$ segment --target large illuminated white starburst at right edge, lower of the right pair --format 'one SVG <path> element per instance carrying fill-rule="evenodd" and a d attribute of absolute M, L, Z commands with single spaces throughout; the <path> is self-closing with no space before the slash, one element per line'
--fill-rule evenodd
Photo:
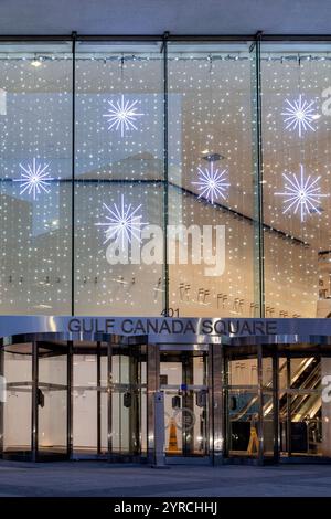
<path fill-rule="evenodd" d="M 284 186 L 285 191 L 282 193 L 275 193 L 285 198 L 285 210 L 282 214 L 286 214 L 291 209 L 293 214 L 297 214 L 298 210 L 300 210 L 301 222 L 305 221 L 307 214 L 321 214 L 319 210 L 320 199 L 323 197 L 329 197 L 329 194 L 322 194 L 320 192 L 321 188 L 318 186 L 318 181 L 321 177 L 312 179 L 311 174 L 308 174 L 308 177 L 305 178 L 302 165 L 300 165 L 299 179 L 296 173 L 290 174 L 291 178 L 282 173 L 282 177 L 286 181 Z"/>

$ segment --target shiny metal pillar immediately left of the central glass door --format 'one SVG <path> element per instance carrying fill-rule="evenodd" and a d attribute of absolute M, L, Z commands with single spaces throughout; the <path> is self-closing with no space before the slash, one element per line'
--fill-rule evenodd
<path fill-rule="evenodd" d="M 154 394 L 160 386 L 160 350 L 157 345 L 147 346 L 147 460 L 156 463 Z"/>

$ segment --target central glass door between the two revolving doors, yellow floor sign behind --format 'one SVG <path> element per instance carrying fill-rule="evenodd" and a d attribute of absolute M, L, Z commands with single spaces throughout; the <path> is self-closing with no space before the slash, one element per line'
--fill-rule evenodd
<path fill-rule="evenodd" d="M 162 352 L 160 389 L 164 392 L 167 456 L 206 456 L 206 352 Z"/>

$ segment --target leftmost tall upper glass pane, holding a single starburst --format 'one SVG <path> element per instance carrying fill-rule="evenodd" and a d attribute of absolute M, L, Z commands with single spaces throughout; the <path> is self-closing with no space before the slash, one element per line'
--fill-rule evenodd
<path fill-rule="evenodd" d="M 71 310 L 70 52 L 0 45 L 1 314 Z"/>

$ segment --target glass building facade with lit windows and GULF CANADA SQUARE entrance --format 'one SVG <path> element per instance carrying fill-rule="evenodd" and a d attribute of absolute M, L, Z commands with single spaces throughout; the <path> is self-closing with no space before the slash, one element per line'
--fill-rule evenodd
<path fill-rule="evenodd" d="M 331 458 L 330 50 L 2 38 L 3 457 Z"/>

